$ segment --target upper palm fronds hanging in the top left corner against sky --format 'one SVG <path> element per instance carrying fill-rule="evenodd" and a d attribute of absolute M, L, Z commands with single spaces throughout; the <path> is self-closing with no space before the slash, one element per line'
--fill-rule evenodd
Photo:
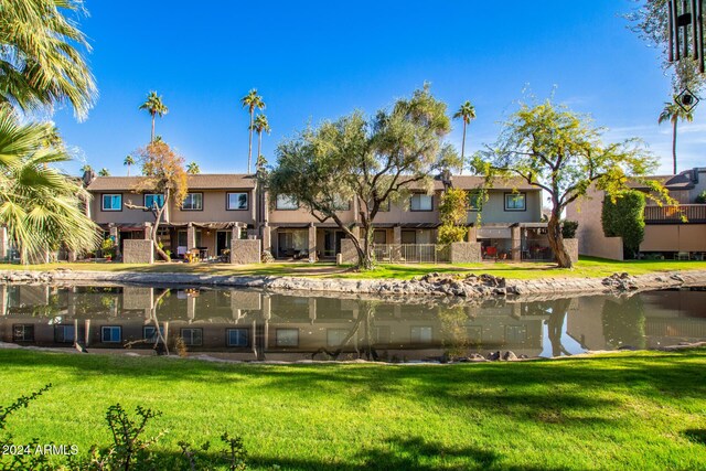
<path fill-rule="evenodd" d="M 79 0 L 0 0 L 0 104 L 23 111 L 71 104 L 84 119 L 97 96 L 75 18 Z"/>

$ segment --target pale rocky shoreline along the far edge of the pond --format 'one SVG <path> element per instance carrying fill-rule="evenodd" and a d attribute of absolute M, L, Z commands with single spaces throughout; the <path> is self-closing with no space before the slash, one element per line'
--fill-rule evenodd
<path fill-rule="evenodd" d="M 706 287 L 706 270 L 653 272 L 639 276 L 613 274 L 606 278 L 539 278 L 516 280 L 492 275 L 452 276 L 429 274 L 410 280 L 338 279 L 203 274 L 145 274 L 137 271 L 0 270 L 0 281 L 21 283 L 137 283 L 182 285 L 221 288 L 259 288 L 274 291 L 309 291 L 383 297 L 451 297 L 488 299 L 506 296 L 598 295 L 645 290 Z"/>

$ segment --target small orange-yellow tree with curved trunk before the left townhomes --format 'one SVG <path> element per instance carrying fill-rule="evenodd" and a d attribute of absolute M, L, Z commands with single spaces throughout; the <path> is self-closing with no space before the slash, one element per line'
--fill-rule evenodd
<path fill-rule="evenodd" d="M 159 226 L 164 217 L 164 211 L 170 205 L 181 206 L 189 193 L 188 176 L 184 170 L 184 158 L 174 152 L 165 142 L 151 142 L 138 150 L 142 163 L 145 178 L 135 186 L 136 193 L 150 192 L 163 195 L 161 202 L 154 201 L 150 207 L 136 205 L 128 201 L 129 208 L 151 211 L 154 215 L 154 224 L 150 233 L 150 239 L 157 254 L 165 261 L 171 257 L 162 249 L 159 243 Z"/>

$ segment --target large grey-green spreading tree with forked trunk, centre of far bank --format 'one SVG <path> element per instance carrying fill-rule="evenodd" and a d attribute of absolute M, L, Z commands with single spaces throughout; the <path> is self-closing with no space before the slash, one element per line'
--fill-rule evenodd
<path fill-rule="evenodd" d="M 266 182 L 321 222 L 332 220 L 353 243 L 359 267 L 373 267 L 373 226 L 381 207 L 399 201 L 413 185 L 425 186 L 437 172 L 458 165 L 445 103 L 427 85 L 411 98 L 366 119 L 355 111 L 336 121 L 309 127 L 277 148 L 277 164 Z M 362 236 L 341 220 L 341 200 L 360 202 Z"/>

